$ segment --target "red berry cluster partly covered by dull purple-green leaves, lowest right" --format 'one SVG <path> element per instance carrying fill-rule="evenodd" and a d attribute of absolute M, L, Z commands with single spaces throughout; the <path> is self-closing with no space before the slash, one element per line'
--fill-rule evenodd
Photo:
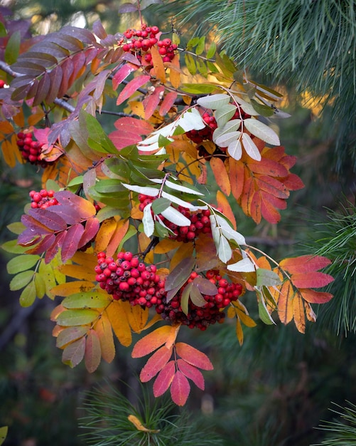
<path fill-rule="evenodd" d="M 169 320 L 172 323 L 182 323 L 189 328 L 199 328 L 202 331 L 206 330 L 213 323 L 222 323 L 225 318 L 225 313 L 222 311 L 222 308 L 225 308 L 230 302 L 238 299 L 242 292 L 242 286 L 222 279 L 218 271 L 207 271 L 206 276 L 217 287 L 217 294 L 215 296 L 203 294 L 203 298 L 206 301 L 204 306 L 196 306 L 189 300 L 188 314 L 183 313 L 180 306 L 180 299 L 185 286 L 198 277 L 196 272 L 192 272 L 186 284 L 171 301 L 167 302 L 166 297 L 163 297 L 162 304 L 156 306 L 156 312 L 163 319 Z"/>

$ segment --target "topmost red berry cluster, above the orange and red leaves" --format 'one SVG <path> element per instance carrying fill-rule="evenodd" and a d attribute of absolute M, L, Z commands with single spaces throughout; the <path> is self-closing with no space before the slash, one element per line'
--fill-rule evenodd
<path fill-rule="evenodd" d="M 174 58 L 174 51 L 178 47 L 175 43 L 172 43 L 170 38 L 158 40 L 156 36 L 159 32 L 158 26 L 146 26 L 146 24 L 142 24 L 139 30 L 127 29 L 124 32 L 127 43 L 122 45 L 122 49 L 126 53 L 135 54 L 140 61 L 144 57 L 144 61 L 151 63 L 152 56 L 150 49 L 156 45 L 158 46 L 158 53 L 161 54 L 163 62 L 170 62 Z"/>

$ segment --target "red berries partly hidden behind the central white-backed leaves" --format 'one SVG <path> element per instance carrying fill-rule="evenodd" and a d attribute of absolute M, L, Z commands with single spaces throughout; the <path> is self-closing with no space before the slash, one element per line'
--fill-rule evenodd
<path fill-rule="evenodd" d="M 139 209 L 141 211 L 147 206 L 147 204 L 153 202 L 156 197 L 149 197 L 148 195 L 139 194 Z M 178 206 L 178 211 L 180 214 L 184 215 L 190 219 L 189 226 L 177 226 L 176 224 L 170 222 L 162 215 L 160 219 L 163 224 L 171 229 L 171 234 L 169 234 L 170 239 L 177 240 L 178 242 L 191 242 L 199 234 L 211 234 L 210 226 L 210 209 L 204 209 L 200 212 L 190 212 L 189 209 L 183 206 Z"/>

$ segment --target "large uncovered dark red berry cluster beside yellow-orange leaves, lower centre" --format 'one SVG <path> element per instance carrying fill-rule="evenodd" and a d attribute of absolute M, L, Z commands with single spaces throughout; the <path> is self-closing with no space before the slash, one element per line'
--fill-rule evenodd
<path fill-rule="evenodd" d="M 95 280 L 113 299 L 150 308 L 162 303 L 164 280 L 156 274 L 156 265 L 146 265 L 130 251 L 119 252 L 117 259 L 97 254 Z"/>

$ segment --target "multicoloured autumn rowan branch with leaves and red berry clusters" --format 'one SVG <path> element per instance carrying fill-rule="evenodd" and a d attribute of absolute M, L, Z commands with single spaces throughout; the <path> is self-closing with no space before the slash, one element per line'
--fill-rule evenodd
<path fill-rule="evenodd" d="M 168 33 L 141 24 L 109 35 L 97 21 L 91 31 L 1 38 L 2 154 L 10 167 L 32 162 L 43 187 L 3 248 L 21 305 L 63 298 L 51 319 L 64 363 L 92 372 L 114 359 L 116 341 L 128 347 L 140 333 L 141 381 L 184 405 L 212 363 L 178 341 L 180 329 L 205 331 L 226 316 L 242 344 L 243 326 L 256 325 L 253 294 L 264 323 L 294 321 L 303 333 L 312 305 L 332 298 L 315 289 L 333 278 L 320 271 L 325 257 L 276 261 L 237 231 L 234 209 L 277 224 L 303 187 L 269 125 L 286 117 L 281 95 L 215 43 Z M 109 132 L 108 98 L 119 115 Z"/>

